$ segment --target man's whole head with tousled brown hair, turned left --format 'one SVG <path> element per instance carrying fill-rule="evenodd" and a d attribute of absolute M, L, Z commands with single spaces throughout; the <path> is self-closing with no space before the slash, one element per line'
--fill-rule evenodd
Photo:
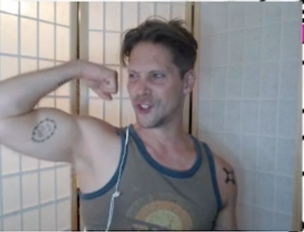
<path fill-rule="evenodd" d="M 182 117 L 194 84 L 196 49 L 178 20 L 147 20 L 125 34 L 120 60 L 126 65 L 128 58 L 128 91 L 141 126 L 159 127 Z"/>

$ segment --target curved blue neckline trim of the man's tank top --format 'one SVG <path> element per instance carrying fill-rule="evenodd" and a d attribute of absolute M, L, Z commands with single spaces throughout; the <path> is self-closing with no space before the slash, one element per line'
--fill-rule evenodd
<path fill-rule="evenodd" d="M 197 154 L 197 158 L 196 158 L 195 163 L 193 164 L 193 166 L 187 171 L 173 170 L 173 169 L 167 168 L 165 166 L 162 166 L 161 164 L 156 162 L 156 160 L 154 160 L 152 158 L 152 156 L 149 154 L 149 152 L 147 151 L 144 142 L 142 141 L 142 139 L 138 136 L 138 134 L 134 130 L 133 125 L 130 126 L 130 135 L 135 140 L 135 143 L 136 143 L 136 145 L 137 145 L 137 147 L 140 151 L 140 154 L 143 155 L 143 157 L 146 159 L 146 161 L 154 169 L 156 169 L 157 171 L 159 171 L 162 174 L 165 174 L 167 176 L 174 177 L 174 178 L 189 178 L 189 177 L 193 176 L 198 171 L 199 167 L 202 164 L 201 148 L 199 146 L 198 141 L 192 135 L 190 135 L 190 137 L 192 138 L 192 140 L 194 142 L 194 147 L 195 147 L 195 151 L 196 151 L 196 154 Z"/>

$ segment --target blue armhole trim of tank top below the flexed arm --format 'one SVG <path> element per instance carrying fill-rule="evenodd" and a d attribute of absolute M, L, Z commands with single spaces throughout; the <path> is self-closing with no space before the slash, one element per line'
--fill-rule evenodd
<path fill-rule="evenodd" d="M 120 130 L 118 128 L 118 130 Z M 119 133 L 119 132 L 118 132 Z M 120 134 L 119 134 L 120 136 Z M 81 193 L 79 191 L 79 197 L 82 199 L 82 200 L 91 200 L 93 198 L 96 198 L 98 196 L 101 196 L 105 193 L 107 193 L 115 184 L 116 184 L 116 181 L 117 181 L 117 178 L 118 178 L 118 174 L 119 174 L 119 164 L 121 163 L 121 159 L 122 159 L 122 156 L 123 156 L 123 150 L 124 150 L 124 142 L 125 142 L 125 136 L 124 134 L 122 134 L 121 137 L 121 152 L 120 152 L 120 158 L 119 158 L 119 163 L 117 165 L 117 169 L 113 175 L 113 177 L 111 178 L 111 180 L 104 186 L 102 187 L 101 189 L 97 190 L 97 191 L 94 191 L 92 193 Z M 125 159 L 124 159 L 124 162 L 122 164 L 122 170 L 121 170 L 121 173 L 123 172 L 123 169 L 124 169 L 124 166 L 126 164 L 126 160 L 127 160 L 127 156 L 128 156 L 128 153 L 126 153 L 126 156 L 125 156 Z"/>

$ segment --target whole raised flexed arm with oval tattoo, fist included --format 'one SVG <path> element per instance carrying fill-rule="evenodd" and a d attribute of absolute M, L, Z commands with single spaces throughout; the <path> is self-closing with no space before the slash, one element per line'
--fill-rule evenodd
<path fill-rule="evenodd" d="M 44 95 L 80 76 L 104 99 L 117 90 L 114 71 L 80 61 L 1 81 L 0 144 L 36 158 L 73 162 L 84 147 L 80 116 L 33 109 Z"/>

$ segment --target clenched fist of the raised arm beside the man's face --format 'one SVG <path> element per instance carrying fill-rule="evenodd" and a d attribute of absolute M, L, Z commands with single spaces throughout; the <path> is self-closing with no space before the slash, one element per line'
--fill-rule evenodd
<path fill-rule="evenodd" d="M 77 61 L 81 77 L 86 85 L 98 96 L 105 100 L 112 100 L 112 94 L 117 93 L 117 72 L 99 64 Z"/>

